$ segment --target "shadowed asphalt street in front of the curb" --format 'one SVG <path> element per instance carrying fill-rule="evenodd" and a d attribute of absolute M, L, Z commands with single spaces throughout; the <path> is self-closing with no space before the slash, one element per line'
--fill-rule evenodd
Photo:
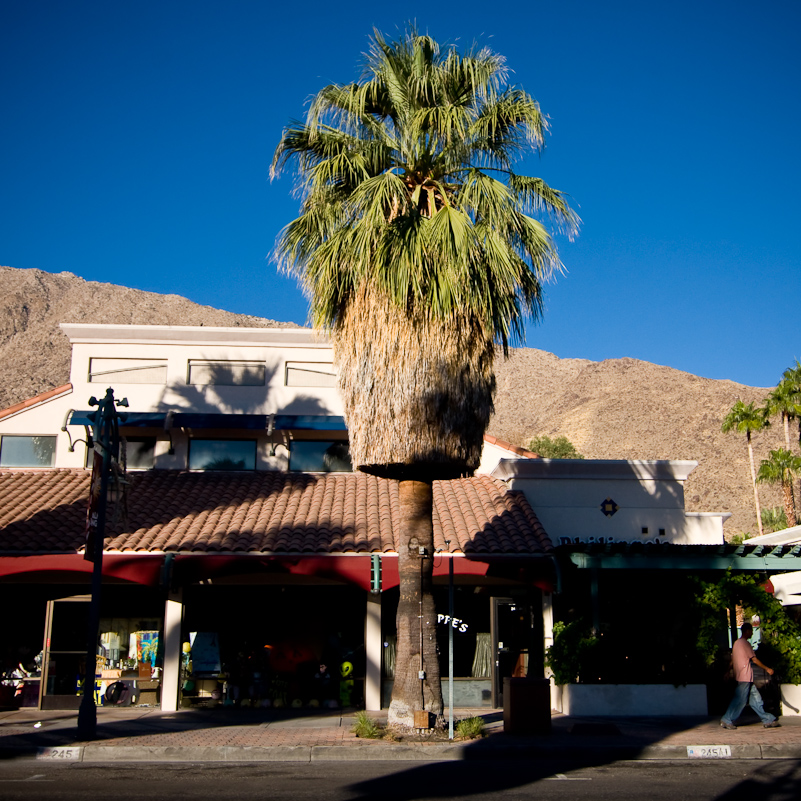
<path fill-rule="evenodd" d="M 0 799 L 85 801 L 264 799 L 537 799 L 537 801 L 798 801 L 801 762 L 397 762 L 103 766 L 0 763 Z"/>

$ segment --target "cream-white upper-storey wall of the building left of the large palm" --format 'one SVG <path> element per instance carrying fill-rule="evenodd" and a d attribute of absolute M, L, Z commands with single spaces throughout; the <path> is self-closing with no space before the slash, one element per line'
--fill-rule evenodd
<path fill-rule="evenodd" d="M 309 329 L 90 324 L 64 324 L 62 329 L 72 344 L 72 390 L 0 420 L 0 436 L 57 436 L 55 466 L 58 468 L 81 468 L 85 465 L 86 446 L 79 443 L 74 452 L 70 452 L 69 436 L 60 429 L 70 410 L 89 410 L 90 397 L 102 398 L 105 395 L 107 383 L 89 380 L 92 359 L 166 361 L 167 377 L 163 384 L 113 381 L 114 396 L 118 399 L 127 398 L 129 412 L 184 410 L 329 416 L 341 416 L 343 412 L 335 387 L 288 387 L 285 384 L 288 361 L 316 364 L 330 364 L 332 361 L 331 346 Z M 190 359 L 263 364 L 266 368 L 266 384 L 257 387 L 191 385 L 187 382 Z M 143 429 L 141 433 L 159 435 L 156 467 L 186 467 L 188 440 L 180 430 L 172 432 L 171 442 L 163 431 Z M 214 435 L 214 432 L 207 433 Z M 74 441 L 83 439 L 85 432 L 81 426 L 70 426 L 69 435 Z M 271 438 L 266 431 L 253 432 L 252 436 L 257 439 L 259 469 L 287 468 L 286 448 L 278 444 L 275 453 L 272 453 L 271 440 L 280 440 L 280 436 Z M 295 436 L 302 438 L 304 435 L 301 432 Z M 171 445 L 172 454 L 169 453 Z"/>

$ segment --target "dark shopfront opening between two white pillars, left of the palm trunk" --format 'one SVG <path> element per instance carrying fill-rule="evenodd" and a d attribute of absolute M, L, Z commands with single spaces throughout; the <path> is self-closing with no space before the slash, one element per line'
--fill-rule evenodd
<path fill-rule="evenodd" d="M 363 702 L 362 590 L 207 585 L 191 588 L 185 604 L 182 706 Z"/>

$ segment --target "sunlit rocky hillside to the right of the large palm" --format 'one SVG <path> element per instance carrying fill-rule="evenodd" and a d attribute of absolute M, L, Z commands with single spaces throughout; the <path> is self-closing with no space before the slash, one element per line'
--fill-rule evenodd
<path fill-rule="evenodd" d="M 693 459 L 686 508 L 731 512 L 727 535 L 756 534 L 745 437 L 720 424 L 737 398 L 761 404 L 768 390 L 714 381 L 636 359 L 559 359 L 525 348 L 499 364 L 491 433 L 509 442 L 533 435 L 566 436 L 589 459 Z M 754 435 L 766 458 L 783 447 L 778 425 Z M 780 493 L 760 486 L 764 506 Z"/>

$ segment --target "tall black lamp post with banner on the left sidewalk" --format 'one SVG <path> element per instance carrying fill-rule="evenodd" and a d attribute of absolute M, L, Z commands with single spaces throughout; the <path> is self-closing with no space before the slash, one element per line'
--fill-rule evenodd
<path fill-rule="evenodd" d="M 120 453 L 120 415 L 117 406 L 127 406 L 127 398 L 116 400 L 109 387 L 103 400 L 89 398 L 90 406 L 97 411 L 89 415 L 92 420 L 94 462 L 89 494 L 89 512 L 86 521 L 86 550 L 84 559 L 94 563 L 92 568 L 92 601 L 89 605 L 89 624 L 86 639 L 86 667 L 84 670 L 83 697 L 78 709 L 78 739 L 94 740 L 97 732 L 95 706 L 95 673 L 97 670 L 97 635 L 100 628 L 100 590 L 103 585 L 103 540 L 106 532 L 106 506 L 108 483 L 112 464 Z M 124 417 L 122 418 L 125 419 Z"/>

